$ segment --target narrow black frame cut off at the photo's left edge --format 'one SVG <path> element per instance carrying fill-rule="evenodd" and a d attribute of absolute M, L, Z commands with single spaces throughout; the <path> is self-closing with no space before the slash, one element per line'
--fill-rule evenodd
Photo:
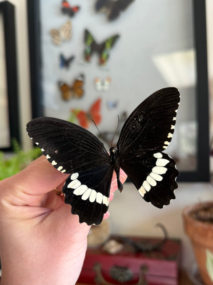
<path fill-rule="evenodd" d="M 0 2 L 0 13 L 3 15 L 4 22 L 7 99 L 10 127 L 10 146 L 6 148 L 1 148 L 0 150 L 12 151 L 12 139 L 16 139 L 18 143 L 20 143 L 15 36 L 15 7 L 8 1 Z"/>

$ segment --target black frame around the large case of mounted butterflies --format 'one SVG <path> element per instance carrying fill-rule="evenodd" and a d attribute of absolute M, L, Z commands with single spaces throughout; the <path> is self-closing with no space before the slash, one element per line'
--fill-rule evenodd
<path fill-rule="evenodd" d="M 30 46 L 30 72 L 32 117 L 43 115 L 41 88 L 41 49 L 40 49 L 40 13 L 39 0 L 27 0 Z M 194 39 L 196 48 L 196 106 L 198 121 L 197 169 L 181 172 L 178 181 L 209 181 L 209 115 L 208 115 L 208 76 L 206 44 L 205 1 L 193 0 Z"/>

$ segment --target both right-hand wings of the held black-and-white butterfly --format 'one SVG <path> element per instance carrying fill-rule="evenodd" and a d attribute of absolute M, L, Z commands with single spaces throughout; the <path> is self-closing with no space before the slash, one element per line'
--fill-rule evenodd
<path fill-rule="evenodd" d="M 153 93 L 126 120 L 117 144 L 120 167 L 140 195 L 159 208 L 175 199 L 178 186 L 175 161 L 161 151 L 172 140 L 179 101 L 176 88 Z"/>

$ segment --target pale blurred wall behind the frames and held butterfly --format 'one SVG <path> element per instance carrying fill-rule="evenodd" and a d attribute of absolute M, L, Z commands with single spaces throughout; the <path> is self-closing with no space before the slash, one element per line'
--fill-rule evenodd
<path fill-rule="evenodd" d="M 17 60 L 18 83 L 20 99 L 22 139 L 25 148 L 30 146 L 30 140 L 25 134 L 26 122 L 30 120 L 30 81 L 29 81 L 29 56 L 27 34 L 27 10 L 25 0 L 11 0 L 16 6 L 16 31 L 17 31 Z M 213 100 L 213 20 L 212 0 L 207 0 L 208 23 L 208 67 L 210 102 Z M 211 111 L 211 129 L 213 116 Z M 161 236 L 159 229 L 155 228 L 157 222 L 162 222 L 167 227 L 169 236 L 179 237 L 183 241 L 182 261 L 184 267 L 190 267 L 194 261 L 193 252 L 187 237 L 183 232 L 181 211 L 187 205 L 198 201 L 212 199 L 212 187 L 208 183 L 180 183 L 176 191 L 176 200 L 163 210 L 158 210 L 143 199 L 138 198 L 136 189 L 131 184 L 126 184 L 123 193 L 115 193 L 115 198 L 110 205 L 110 221 L 112 232 L 116 234 L 131 234 L 145 236 Z M 134 210 L 133 210 L 134 209 Z M 137 211 L 135 211 L 137 209 Z"/>

